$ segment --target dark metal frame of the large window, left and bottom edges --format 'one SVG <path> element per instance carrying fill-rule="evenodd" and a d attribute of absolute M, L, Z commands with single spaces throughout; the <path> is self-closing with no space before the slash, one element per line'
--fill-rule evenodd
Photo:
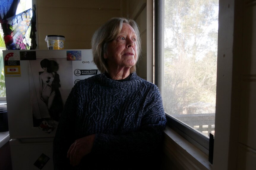
<path fill-rule="evenodd" d="M 162 93 L 163 88 L 163 64 L 164 61 L 161 56 L 164 54 L 164 38 L 163 31 L 164 29 L 164 1 L 162 0 L 154 0 L 154 84 L 156 84 Z M 200 149 L 203 153 L 209 156 L 209 145 L 210 139 L 209 137 L 197 132 L 192 127 L 184 124 L 173 116 L 165 113 L 167 119 L 167 126 L 176 131 L 179 135 L 184 137 L 190 143 L 192 143 L 195 147 Z"/>

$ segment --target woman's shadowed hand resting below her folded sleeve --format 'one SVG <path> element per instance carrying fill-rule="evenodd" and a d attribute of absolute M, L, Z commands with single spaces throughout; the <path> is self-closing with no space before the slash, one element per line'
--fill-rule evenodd
<path fill-rule="evenodd" d="M 77 139 L 69 148 L 67 158 L 70 164 L 76 166 L 80 163 L 83 156 L 91 152 L 95 134 Z"/>

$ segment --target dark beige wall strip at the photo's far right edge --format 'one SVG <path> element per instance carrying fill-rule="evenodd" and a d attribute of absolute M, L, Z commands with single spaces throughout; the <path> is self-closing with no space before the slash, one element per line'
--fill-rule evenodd
<path fill-rule="evenodd" d="M 256 5 L 244 1 L 243 48 L 238 71 L 242 74 L 237 169 L 256 169 Z M 241 61 L 241 65 L 240 65 Z M 237 71 L 237 70 L 236 70 Z M 239 78 L 241 78 L 239 77 Z"/>

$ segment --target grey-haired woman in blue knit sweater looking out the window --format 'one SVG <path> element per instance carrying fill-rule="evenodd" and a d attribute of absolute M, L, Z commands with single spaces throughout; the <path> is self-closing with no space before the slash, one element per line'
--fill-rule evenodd
<path fill-rule="evenodd" d="M 54 139 L 55 169 L 160 166 L 166 119 L 157 86 L 135 73 L 137 24 L 109 20 L 94 33 L 92 51 L 102 74 L 79 81 L 69 94 Z"/>

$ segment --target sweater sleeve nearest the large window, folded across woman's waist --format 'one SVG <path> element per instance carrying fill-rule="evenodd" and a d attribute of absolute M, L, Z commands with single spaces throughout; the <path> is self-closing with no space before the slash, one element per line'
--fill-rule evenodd
<path fill-rule="evenodd" d="M 138 160 L 157 153 L 161 147 L 166 118 L 158 88 L 147 94 L 140 129 L 124 135 L 96 134 L 92 152 L 116 161 Z"/>

